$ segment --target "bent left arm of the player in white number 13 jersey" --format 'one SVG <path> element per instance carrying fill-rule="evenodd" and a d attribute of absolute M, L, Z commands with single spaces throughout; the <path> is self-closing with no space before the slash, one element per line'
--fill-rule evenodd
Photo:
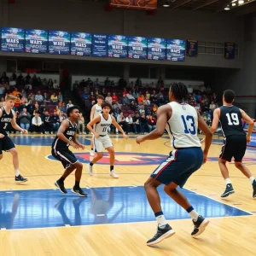
<path fill-rule="evenodd" d="M 167 115 L 168 112 L 170 112 L 169 118 Z M 167 105 L 161 106 L 160 108 L 158 108 L 156 116 L 157 116 L 157 121 L 156 121 L 156 128 L 154 129 L 154 131 L 151 131 L 150 133 L 148 133 L 143 137 L 141 136 L 137 137 L 137 143 L 143 143 L 145 141 L 155 140 L 161 137 L 165 132 L 168 119 L 170 119 L 172 116 L 172 108 L 170 108 L 170 106 L 167 106 Z"/>

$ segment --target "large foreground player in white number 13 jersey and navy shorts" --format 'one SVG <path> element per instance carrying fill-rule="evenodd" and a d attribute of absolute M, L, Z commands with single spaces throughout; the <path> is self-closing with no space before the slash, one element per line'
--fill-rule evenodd
<path fill-rule="evenodd" d="M 137 137 L 138 144 L 155 140 L 161 137 L 166 129 L 170 137 L 172 134 L 172 145 L 175 148 L 144 184 L 148 202 L 158 224 L 156 234 L 147 241 L 148 246 L 175 234 L 172 227 L 167 224 L 160 206 L 160 196 L 157 191 L 160 184 L 165 185 L 166 194 L 171 196 L 191 216 L 195 225 L 191 236 L 199 236 L 209 224 L 209 220 L 199 215 L 180 190 L 177 190 L 177 186 L 182 188 L 190 175 L 197 171 L 203 163 L 206 163 L 208 150 L 212 143 L 212 132 L 205 121 L 201 119 L 195 108 L 183 102 L 187 96 L 188 90 L 184 84 L 172 84 L 169 91 L 170 103 L 157 110 L 156 129 L 146 136 Z M 206 134 L 204 152 L 201 150 L 201 143 L 197 137 L 198 127 Z"/>

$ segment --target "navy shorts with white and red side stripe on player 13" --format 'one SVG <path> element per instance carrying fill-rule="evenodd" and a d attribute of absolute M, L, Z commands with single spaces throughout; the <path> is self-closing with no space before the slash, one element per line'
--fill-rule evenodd
<path fill-rule="evenodd" d="M 168 158 L 158 166 L 150 177 L 169 185 L 176 183 L 181 188 L 189 176 L 203 163 L 201 148 L 179 148 L 172 150 Z"/>

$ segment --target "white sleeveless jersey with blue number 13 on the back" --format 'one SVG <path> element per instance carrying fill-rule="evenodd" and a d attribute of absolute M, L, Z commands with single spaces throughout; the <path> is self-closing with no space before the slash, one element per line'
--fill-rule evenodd
<path fill-rule="evenodd" d="M 195 108 L 184 102 L 170 102 L 168 105 L 172 107 L 172 117 L 167 121 L 166 131 L 172 139 L 173 148 L 201 148 Z"/>

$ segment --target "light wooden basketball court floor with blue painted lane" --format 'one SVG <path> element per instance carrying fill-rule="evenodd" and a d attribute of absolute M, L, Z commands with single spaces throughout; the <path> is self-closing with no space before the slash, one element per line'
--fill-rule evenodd
<path fill-rule="evenodd" d="M 73 150 L 84 164 L 81 187 L 88 194 L 73 194 L 74 176 L 65 181 L 67 195 L 55 188 L 63 172 L 50 155 L 53 136 L 10 135 L 20 156 L 20 172 L 27 183 L 15 184 L 11 154 L 4 153 L 0 172 L 0 255 L 255 255 L 256 201 L 249 180 L 230 163 L 236 193 L 220 199 L 225 183 L 218 169 L 221 143 L 214 137 L 207 164 L 189 178 L 183 193 L 204 217 L 207 230 L 190 236 L 189 214 L 160 187 L 163 212 L 176 235 L 155 247 L 156 222 L 143 183 L 172 150 L 169 138 L 138 145 L 135 136 L 125 141 L 112 136 L 116 151 L 115 172 L 109 177 L 108 154 L 86 171 L 90 161 L 88 136 L 79 141 L 84 151 Z M 247 148 L 244 163 L 256 176 L 256 148 Z"/>

